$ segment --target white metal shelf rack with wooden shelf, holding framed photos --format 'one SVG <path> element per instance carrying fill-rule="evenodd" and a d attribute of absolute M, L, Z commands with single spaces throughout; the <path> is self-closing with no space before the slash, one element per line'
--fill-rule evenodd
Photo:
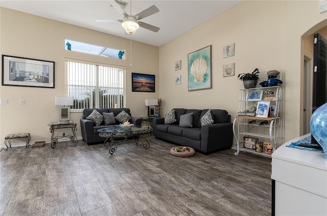
<path fill-rule="evenodd" d="M 235 116 L 233 121 L 233 133 L 237 141 L 235 155 L 238 155 L 240 151 L 245 151 L 270 157 L 270 154 L 264 153 L 264 144 L 271 144 L 271 148 L 268 147 L 270 152 L 275 151 L 282 144 L 282 87 L 240 89 L 239 92 L 239 115 Z M 251 96 L 253 93 L 255 93 L 254 97 Z M 258 103 L 269 103 L 267 117 L 241 115 L 242 112 L 244 114 L 244 112 L 256 109 Z M 265 121 L 266 123 L 263 123 Z M 261 148 L 250 149 L 248 146 L 246 148 L 244 141 L 248 138 L 253 138 L 252 140 L 263 144 L 262 150 Z"/>

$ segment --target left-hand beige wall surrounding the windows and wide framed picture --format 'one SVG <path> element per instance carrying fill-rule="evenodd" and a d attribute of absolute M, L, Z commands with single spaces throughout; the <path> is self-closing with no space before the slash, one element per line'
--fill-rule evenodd
<path fill-rule="evenodd" d="M 59 107 L 55 106 L 55 96 L 65 95 L 65 58 L 125 66 L 127 68 L 126 107 L 131 109 L 133 116 L 147 115 L 144 99 L 158 97 L 158 79 L 156 79 L 155 93 L 132 92 L 131 73 L 154 74 L 158 77 L 158 47 L 133 41 L 133 64 L 130 66 L 130 41 L 128 39 L 6 8 L 1 8 L 0 12 L 1 55 L 55 62 L 55 89 L 0 87 L 0 98 L 8 99 L 8 104 L 0 105 L 1 144 L 4 144 L 4 137 L 7 134 L 14 132 L 30 132 L 32 143 L 33 141 L 50 140 L 51 133 L 47 124 L 58 121 L 59 118 Z M 64 38 L 115 49 L 125 49 L 126 60 L 64 50 Z M 144 67 L 145 65 L 146 67 Z M 19 99 L 25 99 L 26 104 L 19 105 Z M 79 125 L 81 116 L 81 113 L 71 113 L 71 119 L 78 122 L 78 137 L 81 136 Z M 69 130 L 58 130 L 59 134 L 62 132 L 67 133 Z M 21 140 L 13 140 L 13 143 L 15 142 L 21 142 Z"/>

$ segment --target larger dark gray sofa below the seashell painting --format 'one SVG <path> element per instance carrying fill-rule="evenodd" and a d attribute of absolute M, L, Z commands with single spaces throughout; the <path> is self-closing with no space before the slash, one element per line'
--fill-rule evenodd
<path fill-rule="evenodd" d="M 155 138 L 166 140 L 180 146 L 189 146 L 204 154 L 232 146 L 233 131 L 230 115 L 225 110 L 212 110 L 214 123 L 201 126 L 200 119 L 208 110 L 175 110 L 176 122 L 165 124 L 165 118 L 153 119 Z M 193 127 L 180 127 L 179 118 L 193 113 Z"/>

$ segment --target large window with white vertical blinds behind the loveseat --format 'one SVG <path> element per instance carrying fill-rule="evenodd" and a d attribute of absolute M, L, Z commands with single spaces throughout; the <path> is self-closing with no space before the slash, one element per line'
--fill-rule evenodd
<path fill-rule="evenodd" d="M 85 108 L 124 107 L 125 69 L 66 61 L 67 92 L 72 112 Z"/>

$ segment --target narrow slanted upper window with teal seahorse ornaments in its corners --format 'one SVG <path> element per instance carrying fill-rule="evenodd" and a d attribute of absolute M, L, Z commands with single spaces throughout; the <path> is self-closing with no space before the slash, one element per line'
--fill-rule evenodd
<path fill-rule="evenodd" d="M 125 60 L 125 50 L 112 49 L 103 46 L 97 46 L 88 43 L 82 43 L 78 41 L 73 41 L 65 38 L 66 50 L 72 50 L 76 52 L 84 52 L 91 55 L 110 57 L 114 59 L 123 59 Z"/>

